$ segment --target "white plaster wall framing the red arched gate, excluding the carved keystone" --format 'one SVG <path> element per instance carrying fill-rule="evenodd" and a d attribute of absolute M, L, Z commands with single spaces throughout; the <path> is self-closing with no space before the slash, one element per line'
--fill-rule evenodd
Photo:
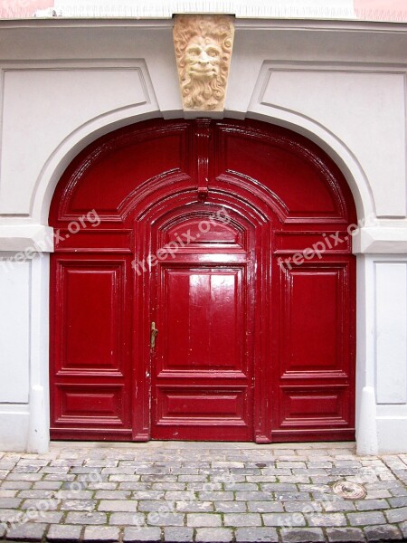
<path fill-rule="evenodd" d="M 170 21 L 31 25 L 0 25 L 3 258 L 42 243 L 52 251 L 53 189 L 91 140 L 183 115 Z M 360 452 L 407 451 L 405 37 L 384 26 L 240 22 L 226 100 L 226 115 L 325 148 L 369 220 L 354 240 Z M 48 285 L 46 255 L 0 266 L 0 449 L 48 445 Z"/>

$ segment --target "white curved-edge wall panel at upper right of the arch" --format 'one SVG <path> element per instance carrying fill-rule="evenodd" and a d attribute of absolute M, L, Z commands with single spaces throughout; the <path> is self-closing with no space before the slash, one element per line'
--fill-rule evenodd
<path fill-rule="evenodd" d="M 266 64 L 251 107 L 294 111 L 321 124 L 363 168 L 377 216 L 405 216 L 404 78 L 404 73 L 293 71 Z"/>

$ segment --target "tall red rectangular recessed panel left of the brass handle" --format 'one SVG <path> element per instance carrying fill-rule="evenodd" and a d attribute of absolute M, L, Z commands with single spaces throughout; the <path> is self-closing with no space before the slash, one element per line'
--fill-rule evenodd
<path fill-rule="evenodd" d="M 61 262 L 60 374 L 118 372 L 122 365 L 124 262 Z"/>

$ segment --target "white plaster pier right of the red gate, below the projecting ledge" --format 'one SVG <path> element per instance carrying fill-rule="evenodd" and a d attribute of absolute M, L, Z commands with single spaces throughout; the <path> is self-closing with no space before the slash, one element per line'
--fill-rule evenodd
<path fill-rule="evenodd" d="M 407 451 L 407 255 L 361 255 L 357 445 Z"/>

